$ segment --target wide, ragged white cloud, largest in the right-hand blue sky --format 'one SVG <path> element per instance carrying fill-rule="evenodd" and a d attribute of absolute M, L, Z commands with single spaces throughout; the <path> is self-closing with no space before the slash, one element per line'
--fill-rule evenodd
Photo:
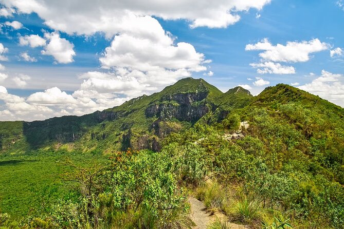
<path fill-rule="evenodd" d="M 265 61 L 273 62 L 306 62 L 310 54 L 329 49 L 329 44 L 320 42 L 319 39 L 302 42 L 287 42 L 286 45 L 272 45 L 267 39 L 257 44 L 248 44 L 245 50 L 265 50 L 259 56 Z"/>

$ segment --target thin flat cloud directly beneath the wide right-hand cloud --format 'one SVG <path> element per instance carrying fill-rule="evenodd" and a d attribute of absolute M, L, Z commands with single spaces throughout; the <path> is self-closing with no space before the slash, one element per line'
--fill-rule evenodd
<path fill-rule="evenodd" d="M 284 66 L 274 62 L 252 63 L 250 66 L 257 68 L 259 74 L 295 74 L 293 66 Z"/>

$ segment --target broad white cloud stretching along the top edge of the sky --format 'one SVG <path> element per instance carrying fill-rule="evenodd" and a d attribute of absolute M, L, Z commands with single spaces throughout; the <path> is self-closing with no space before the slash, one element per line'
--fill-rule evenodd
<path fill-rule="evenodd" d="M 261 10 L 271 0 L 190 0 L 190 1 L 155 1 L 148 0 L 116 2 L 79 0 L 71 3 L 61 1 L 11 1 L 3 0 L 9 8 L 16 8 L 22 13 L 37 13 L 45 24 L 52 29 L 69 34 L 90 35 L 97 31 L 116 34 L 122 25 L 122 18 L 128 13 L 135 15 L 154 15 L 165 20 L 184 18 L 190 21 L 190 27 L 206 26 L 209 28 L 224 28 L 240 20 L 239 12 L 250 8 Z M 80 7 L 82 6 L 82 7 Z M 121 29 L 120 29 L 121 30 Z"/>

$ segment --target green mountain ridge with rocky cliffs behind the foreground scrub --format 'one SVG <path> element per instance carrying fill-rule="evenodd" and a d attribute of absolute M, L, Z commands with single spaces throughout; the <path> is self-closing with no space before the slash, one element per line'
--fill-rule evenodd
<path fill-rule="evenodd" d="M 158 151 L 159 142 L 167 135 L 188 129 L 201 118 L 208 123 L 220 122 L 233 109 L 273 107 L 291 101 L 318 104 L 344 115 L 341 107 L 289 85 L 267 87 L 253 97 L 240 86 L 223 93 L 203 79 L 185 78 L 151 96 L 143 95 L 81 117 L 0 122 L 0 149 L 22 152 L 68 144 L 83 152 L 126 148 Z"/>

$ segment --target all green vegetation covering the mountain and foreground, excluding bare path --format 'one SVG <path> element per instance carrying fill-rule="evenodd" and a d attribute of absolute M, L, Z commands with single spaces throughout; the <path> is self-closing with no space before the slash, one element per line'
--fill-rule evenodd
<path fill-rule="evenodd" d="M 253 97 L 188 78 L 83 117 L 0 122 L 0 228 L 192 228 L 190 196 L 224 215 L 209 228 L 344 228 L 343 118 L 288 85 Z"/>

